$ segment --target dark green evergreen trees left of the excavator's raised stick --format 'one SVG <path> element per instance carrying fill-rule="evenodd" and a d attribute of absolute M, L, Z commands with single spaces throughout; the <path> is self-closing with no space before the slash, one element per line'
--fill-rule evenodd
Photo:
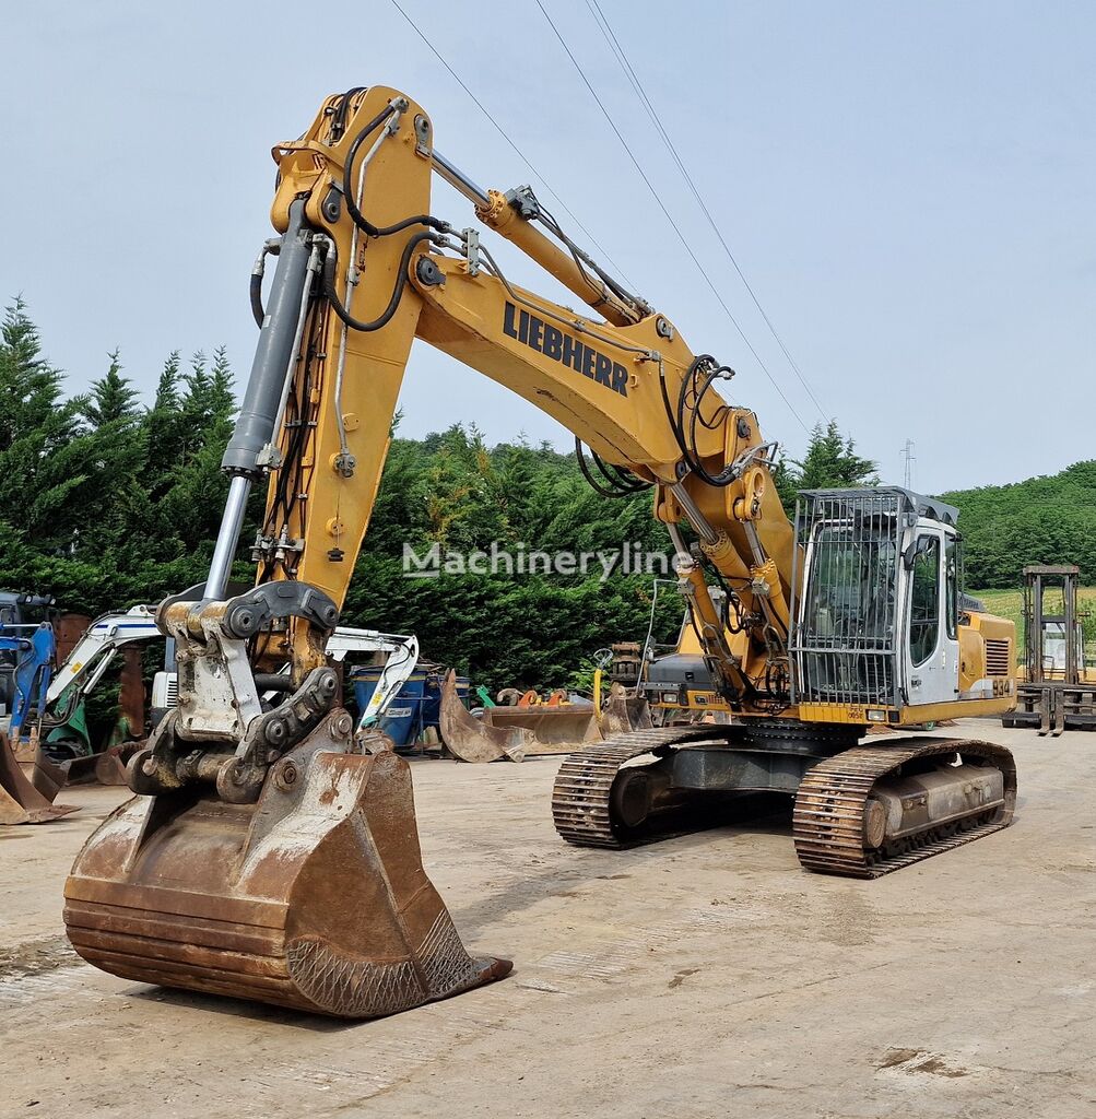
<path fill-rule="evenodd" d="M 224 499 L 219 459 L 235 401 L 224 351 L 180 378 L 172 354 L 151 408 L 118 350 L 65 399 L 21 301 L 0 340 L 0 549 L 6 587 L 99 613 L 204 575 Z M 246 565 L 241 571 L 246 576 Z"/>

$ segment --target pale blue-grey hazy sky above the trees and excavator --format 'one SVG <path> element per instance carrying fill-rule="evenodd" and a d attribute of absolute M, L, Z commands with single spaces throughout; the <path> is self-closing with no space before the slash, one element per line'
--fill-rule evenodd
<path fill-rule="evenodd" d="M 1096 6 L 599 0 L 774 333 L 592 0 L 543 2 L 701 267 L 535 0 L 400 0 L 528 163 L 393 0 L 37 0 L 4 13 L 0 300 L 22 295 L 69 392 L 118 347 L 148 399 L 171 350 L 218 345 L 242 391 L 270 149 L 328 94 L 384 84 L 481 186 L 532 182 L 694 352 L 737 370 L 728 395 L 793 458 L 831 417 L 883 481 L 902 481 L 911 440 L 927 492 L 1096 458 Z M 435 181 L 433 213 L 474 224 Z M 558 297 L 509 246 L 500 260 Z M 406 435 L 472 422 L 489 442 L 572 444 L 421 342 L 401 406 Z"/>

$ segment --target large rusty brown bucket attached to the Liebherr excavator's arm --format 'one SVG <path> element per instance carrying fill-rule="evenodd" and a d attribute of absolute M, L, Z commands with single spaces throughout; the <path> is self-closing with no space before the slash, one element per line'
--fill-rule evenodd
<path fill-rule="evenodd" d="M 427 877 L 408 763 L 332 751 L 335 717 L 257 803 L 184 789 L 107 817 L 65 885 L 76 951 L 124 979 L 346 1018 L 505 976 L 465 950 Z"/>

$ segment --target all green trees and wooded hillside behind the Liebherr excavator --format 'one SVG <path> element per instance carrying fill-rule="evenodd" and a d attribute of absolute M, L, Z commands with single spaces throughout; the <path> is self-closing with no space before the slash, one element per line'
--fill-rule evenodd
<path fill-rule="evenodd" d="M 9 307 L 0 340 L 0 582 L 93 614 L 199 582 L 221 519 L 219 462 L 235 410 L 223 349 L 186 363 L 170 354 L 150 406 L 118 351 L 87 393 L 66 396 L 27 308 Z M 777 471 L 789 511 L 797 489 L 875 481 L 874 463 L 835 423 L 815 430 L 802 462 L 785 460 Z M 1057 480 L 950 497 L 963 510 L 972 585 L 1018 585 L 1023 563 L 1038 561 L 1080 562 L 1096 581 L 1096 463 Z M 244 545 L 262 498 L 255 493 Z M 1062 501 L 1080 511 L 1062 516 Z M 422 553 L 434 543 L 469 552 L 493 542 L 550 553 L 618 549 L 624 542 L 640 552 L 667 549 L 649 496 L 600 497 L 573 454 L 525 442 L 489 448 L 460 426 L 424 440 L 396 438 L 344 619 L 415 632 L 428 656 L 491 685 L 562 684 L 596 649 L 644 639 L 649 575 L 605 583 L 597 571 L 404 577 L 405 543 Z M 246 561 L 236 573 L 253 577 Z M 680 619 L 680 601 L 666 593 L 655 610 L 656 637 L 672 639 Z"/>

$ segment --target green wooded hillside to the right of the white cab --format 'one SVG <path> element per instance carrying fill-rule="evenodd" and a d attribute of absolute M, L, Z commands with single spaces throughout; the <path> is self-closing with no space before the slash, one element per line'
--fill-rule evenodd
<path fill-rule="evenodd" d="M 959 509 L 968 586 L 1019 587 L 1033 563 L 1074 563 L 1083 584 L 1096 582 L 1096 460 L 940 496 Z"/>

